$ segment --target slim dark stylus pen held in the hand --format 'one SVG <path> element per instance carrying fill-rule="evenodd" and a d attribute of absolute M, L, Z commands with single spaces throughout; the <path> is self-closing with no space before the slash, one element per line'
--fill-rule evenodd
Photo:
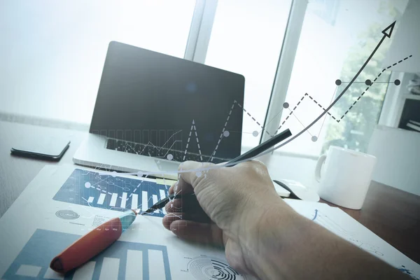
<path fill-rule="evenodd" d="M 292 136 L 292 133 L 290 132 L 290 130 L 288 129 L 284 130 L 283 132 L 277 134 L 276 136 L 256 146 L 255 148 L 252 148 L 251 150 L 247 151 L 246 153 L 242 155 L 239 155 L 239 157 L 228 161 L 226 165 L 228 165 L 228 167 L 232 167 L 232 166 L 235 166 L 235 162 L 240 162 L 241 160 L 248 160 L 250 158 L 253 158 L 259 155 L 260 153 L 267 151 L 269 148 L 272 148 L 276 144 L 279 144 L 281 141 L 286 140 L 290 136 Z M 188 196 L 194 197 L 195 193 L 188 194 Z M 155 204 L 153 204 L 151 208 L 147 209 L 146 211 L 143 211 L 141 215 L 151 213 L 158 209 L 162 209 L 170 200 L 175 200 L 176 198 L 181 198 L 181 197 L 182 197 L 181 193 L 177 193 L 176 195 L 175 194 L 169 195 L 163 198 L 162 200 L 159 200 Z"/>

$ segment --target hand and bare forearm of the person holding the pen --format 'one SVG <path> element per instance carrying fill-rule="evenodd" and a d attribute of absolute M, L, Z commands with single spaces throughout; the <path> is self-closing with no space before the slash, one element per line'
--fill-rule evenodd
<path fill-rule="evenodd" d="M 270 280 L 409 279 L 288 207 L 262 163 L 214 167 L 181 164 L 169 193 L 183 197 L 166 205 L 163 224 L 181 238 L 224 245 L 239 272 Z"/>

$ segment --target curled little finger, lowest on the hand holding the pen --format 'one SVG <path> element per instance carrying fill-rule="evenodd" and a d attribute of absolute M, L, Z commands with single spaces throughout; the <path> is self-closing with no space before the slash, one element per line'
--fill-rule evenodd
<path fill-rule="evenodd" d="M 169 230 L 182 239 L 224 246 L 223 232 L 215 223 L 199 223 L 190 220 L 176 220 L 170 223 Z"/>

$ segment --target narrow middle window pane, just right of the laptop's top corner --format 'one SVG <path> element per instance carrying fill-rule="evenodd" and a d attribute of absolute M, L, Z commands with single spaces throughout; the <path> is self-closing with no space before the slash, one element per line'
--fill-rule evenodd
<path fill-rule="evenodd" d="M 244 113 L 244 148 L 260 141 L 290 4 L 291 0 L 218 1 L 205 63 L 245 76 L 241 106 L 252 117 Z"/>

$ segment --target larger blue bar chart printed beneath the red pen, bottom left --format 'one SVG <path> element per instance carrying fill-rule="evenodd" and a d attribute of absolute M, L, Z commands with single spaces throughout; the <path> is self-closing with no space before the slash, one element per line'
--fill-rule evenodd
<path fill-rule="evenodd" d="M 172 279 L 166 246 L 127 241 L 116 241 L 64 276 L 49 269 L 52 258 L 79 237 L 36 230 L 0 279 Z"/>

